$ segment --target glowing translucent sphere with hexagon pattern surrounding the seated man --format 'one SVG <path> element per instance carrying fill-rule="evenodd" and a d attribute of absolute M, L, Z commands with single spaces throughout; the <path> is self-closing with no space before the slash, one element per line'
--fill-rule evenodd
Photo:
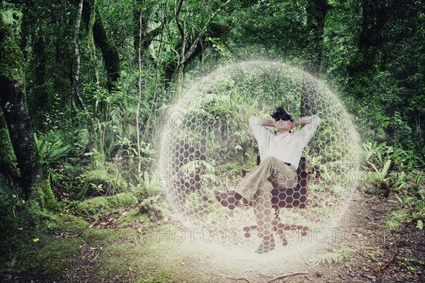
<path fill-rule="evenodd" d="M 252 207 L 231 211 L 217 202 L 213 191 L 232 190 L 242 179 L 242 169 L 256 166 L 258 149 L 248 119 L 271 119 L 277 106 L 293 117 L 322 118 L 303 154 L 306 205 L 278 210 L 277 221 L 307 226 L 309 231 L 283 229 L 285 248 L 299 249 L 325 234 L 329 237 L 344 214 L 360 150 L 358 133 L 339 98 L 324 83 L 288 64 L 231 64 L 183 90 L 179 102 L 166 108 L 160 131 L 159 174 L 169 204 L 186 227 L 202 231 L 205 241 L 246 250 L 258 246 L 256 229 L 246 233 L 246 227 L 256 224 Z M 300 200 L 300 192 L 291 194 L 278 201 Z"/>

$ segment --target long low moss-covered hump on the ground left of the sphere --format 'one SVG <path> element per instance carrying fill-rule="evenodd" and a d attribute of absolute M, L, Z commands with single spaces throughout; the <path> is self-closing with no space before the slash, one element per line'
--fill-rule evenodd
<path fill-rule="evenodd" d="M 75 208 L 77 214 L 85 216 L 99 216 L 113 209 L 124 208 L 135 202 L 136 197 L 131 192 L 122 192 L 107 197 L 92 197 L 80 202 Z"/>

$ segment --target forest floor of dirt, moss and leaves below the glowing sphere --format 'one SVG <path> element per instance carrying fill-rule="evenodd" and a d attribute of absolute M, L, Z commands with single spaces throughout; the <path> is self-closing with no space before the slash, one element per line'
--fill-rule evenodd
<path fill-rule="evenodd" d="M 137 228 L 138 224 L 119 226 L 115 212 L 84 229 L 53 232 L 49 237 L 55 245 L 50 250 L 60 248 L 64 253 L 49 253 L 50 258 L 38 260 L 59 262 L 55 268 L 46 262 L 38 270 L 18 272 L 20 262 L 15 262 L 1 279 L 12 283 L 425 282 L 425 233 L 414 224 L 397 231 L 385 229 L 386 216 L 399 208 L 391 198 L 356 191 L 339 222 L 344 236 L 286 258 L 278 256 L 285 253 L 283 247 L 254 257 L 217 253 L 214 246 L 188 238 L 173 241 L 170 235 L 179 229 L 178 223 L 158 221 L 149 229 Z M 341 247 L 352 249 L 348 258 L 321 264 L 309 260 L 311 255 Z"/>

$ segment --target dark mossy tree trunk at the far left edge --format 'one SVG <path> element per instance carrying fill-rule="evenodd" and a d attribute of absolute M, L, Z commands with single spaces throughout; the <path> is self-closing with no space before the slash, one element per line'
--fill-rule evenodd
<path fill-rule="evenodd" d="M 23 54 L 0 17 L 0 106 L 26 197 L 40 180 L 40 158 L 26 105 Z"/>

